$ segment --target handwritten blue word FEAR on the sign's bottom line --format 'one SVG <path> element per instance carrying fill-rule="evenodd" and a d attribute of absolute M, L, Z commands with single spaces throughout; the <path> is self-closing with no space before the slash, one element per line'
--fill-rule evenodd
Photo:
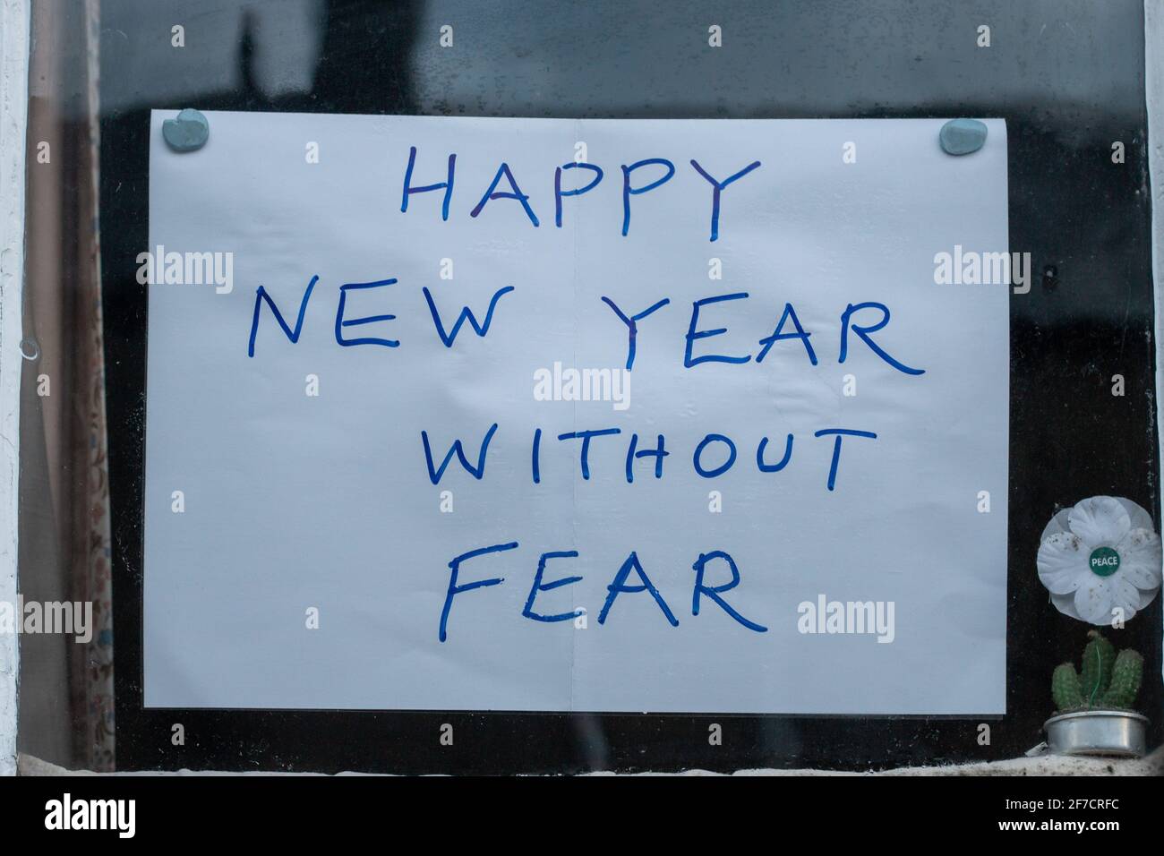
<path fill-rule="evenodd" d="M 508 544 L 494 544 L 488 547 L 480 547 L 477 550 L 470 550 L 467 553 L 461 553 L 448 564 L 448 589 L 445 593 L 445 607 L 441 609 L 440 631 L 438 634 L 441 642 L 446 642 L 448 639 L 448 620 L 449 614 L 453 610 L 454 597 L 467 594 L 468 592 L 474 592 L 478 588 L 490 588 L 505 582 L 504 576 L 490 576 L 473 580 L 471 582 L 461 582 L 461 566 L 470 559 L 480 559 L 492 553 L 504 553 L 517 549 L 518 543 L 516 540 L 509 542 Z M 521 610 L 521 615 L 524 617 L 530 618 L 531 621 L 553 624 L 562 621 L 574 621 L 575 618 L 587 614 L 587 610 L 581 608 L 573 609 L 568 613 L 555 613 L 552 615 L 539 613 L 535 609 L 538 595 L 542 592 L 552 592 L 563 586 L 572 586 L 583 579 L 582 576 L 558 576 L 547 582 L 546 568 L 548 564 L 553 560 L 556 566 L 561 561 L 577 558 L 579 552 L 576 550 L 558 550 L 546 552 L 538 558 L 538 568 L 533 574 L 533 583 L 530 586 L 530 595 L 526 597 L 525 608 Z M 716 563 L 716 566 L 709 568 L 712 563 Z M 719 565 L 721 563 L 722 566 Z M 724 567 L 726 567 L 731 579 L 718 586 L 710 585 L 709 580 L 712 575 L 718 574 L 719 576 L 723 576 Z M 732 559 L 731 556 L 725 553 L 723 550 L 712 550 L 708 553 L 700 553 L 700 558 L 695 560 L 694 565 L 691 565 L 691 570 L 695 572 L 695 580 L 691 588 L 693 616 L 700 614 L 700 607 L 702 606 L 703 600 L 707 599 L 731 616 L 733 621 L 748 630 L 758 634 L 765 634 L 768 631 L 768 628 L 762 624 L 757 624 L 755 622 L 745 618 L 723 597 L 723 594 L 736 588 L 740 580 L 739 568 L 736 566 L 736 560 Z M 679 627 L 679 618 L 675 617 L 675 613 L 672 610 L 670 606 L 651 581 L 643 563 L 639 560 L 638 553 L 634 551 L 631 551 L 630 556 L 626 557 L 626 560 L 615 573 L 610 585 L 606 586 L 606 600 L 602 604 L 602 611 L 598 613 L 598 624 L 606 623 L 606 620 L 610 617 L 611 610 L 615 607 L 615 602 L 620 595 L 643 594 L 647 594 L 654 600 L 661 617 L 666 620 L 668 624 L 672 627 Z"/>

